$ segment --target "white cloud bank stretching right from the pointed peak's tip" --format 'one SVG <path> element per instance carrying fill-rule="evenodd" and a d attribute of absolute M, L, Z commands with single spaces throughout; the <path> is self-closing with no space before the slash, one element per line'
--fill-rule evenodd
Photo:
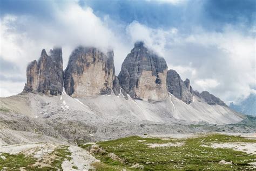
<path fill-rule="evenodd" d="M 235 101 L 255 86 L 255 40 L 233 26 L 223 32 L 197 27 L 190 34 L 177 28 L 155 29 L 133 22 L 126 28 L 131 40 L 143 40 L 165 57 L 169 69 L 189 78 L 196 90 L 208 90 L 224 101 Z"/>

